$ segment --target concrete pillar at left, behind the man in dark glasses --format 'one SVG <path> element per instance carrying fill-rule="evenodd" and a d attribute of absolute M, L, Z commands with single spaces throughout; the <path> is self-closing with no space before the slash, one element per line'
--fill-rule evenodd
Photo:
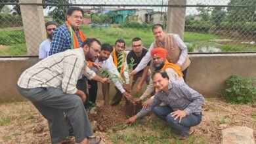
<path fill-rule="evenodd" d="M 20 0 L 20 3 L 42 3 L 42 0 Z M 39 45 L 47 39 L 43 7 L 20 5 L 28 55 L 38 55 Z"/>

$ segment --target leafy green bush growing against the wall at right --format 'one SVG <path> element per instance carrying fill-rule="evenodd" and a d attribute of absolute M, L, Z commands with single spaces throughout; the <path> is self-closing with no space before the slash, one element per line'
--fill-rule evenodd
<path fill-rule="evenodd" d="M 255 82 L 255 78 L 244 79 L 233 75 L 226 81 L 230 88 L 227 88 L 222 96 L 230 103 L 256 103 Z"/>

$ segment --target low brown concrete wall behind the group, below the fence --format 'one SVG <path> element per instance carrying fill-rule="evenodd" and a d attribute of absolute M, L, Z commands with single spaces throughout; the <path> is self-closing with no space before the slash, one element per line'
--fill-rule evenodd
<path fill-rule="evenodd" d="M 205 97 L 224 92 L 225 81 L 231 75 L 256 77 L 256 54 L 193 54 L 190 58 L 186 82 Z M 38 61 L 37 58 L 0 58 L 0 102 L 22 100 L 16 90 L 18 77 Z M 102 98 L 100 84 L 98 89 L 98 98 Z M 113 96 L 115 89 L 110 91 Z"/>

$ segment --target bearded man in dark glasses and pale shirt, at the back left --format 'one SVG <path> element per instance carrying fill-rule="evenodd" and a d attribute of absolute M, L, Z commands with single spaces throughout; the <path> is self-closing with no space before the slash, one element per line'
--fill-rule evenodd
<path fill-rule="evenodd" d="M 49 56 L 49 51 L 51 48 L 51 42 L 53 41 L 53 31 L 57 28 L 57 23 L 55 21 L 49 21 L 45 24 L 45 29 L 47 32 L 47 39 L 43 41 L 39 46 L 39 59 L 44 59 Z"/>

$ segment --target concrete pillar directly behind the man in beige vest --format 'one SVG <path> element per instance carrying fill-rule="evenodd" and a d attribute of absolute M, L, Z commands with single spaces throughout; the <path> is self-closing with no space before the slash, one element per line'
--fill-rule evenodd
<path fill-rule="evenodd" d="M 186 5 L 186 0 L 169 0 L 168 5 Z M 183 39 L 186 7 L 168 7 L 167 33 L 177 33 Z"/>

